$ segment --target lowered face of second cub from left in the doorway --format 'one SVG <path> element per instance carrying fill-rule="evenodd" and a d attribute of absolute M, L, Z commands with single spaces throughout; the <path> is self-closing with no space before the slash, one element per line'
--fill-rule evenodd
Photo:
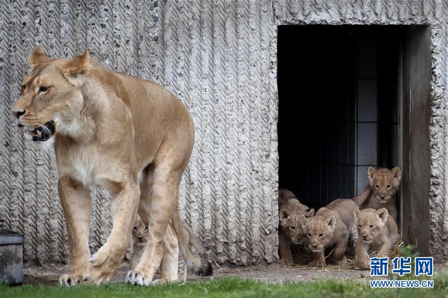
<path fill-rule="evenodd" d="M 336 229 L 334 215 L 302 217 L 303 232 L 307 235 L 308 247 L 314 252 L 323 251 Z"/>

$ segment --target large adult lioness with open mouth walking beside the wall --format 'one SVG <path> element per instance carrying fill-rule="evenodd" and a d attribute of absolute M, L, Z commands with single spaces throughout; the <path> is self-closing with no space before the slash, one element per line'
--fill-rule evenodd
<path fill-rule="evenodd" d="M 188 249 L 179 217 L 179 183 L 194 144 L 193 120 L 182 102 L 156 83 L 104 68 L 87 50 L 72 60 L 51 60 L 37 47 L 29 61 L 12 112 L 34 142 L 54 141 L 71 259 L 60 283 L 70 286 L 83 276 L 92 284 L 109 280 L 129 246 L 137 208 L 149 234 L 127 282 L 151 283 L 170 220 L 187 261 L 209 274 L 210 264 Z M 112 231 L 93 256 L 89 187 L 112 195 Z M 177 263 L 166 270 L 173 268 Z"/>

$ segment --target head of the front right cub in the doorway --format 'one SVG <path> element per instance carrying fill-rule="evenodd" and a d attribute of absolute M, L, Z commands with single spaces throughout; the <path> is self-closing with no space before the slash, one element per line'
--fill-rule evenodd
<path fill-rule="evenodd" d="M 353 215 L 358 228 L 359 238 L 364 243 L 370 243 L 386 224 L 389 213 L 386 208 L 359 210 L 358 206 L 356 206 Z"/>

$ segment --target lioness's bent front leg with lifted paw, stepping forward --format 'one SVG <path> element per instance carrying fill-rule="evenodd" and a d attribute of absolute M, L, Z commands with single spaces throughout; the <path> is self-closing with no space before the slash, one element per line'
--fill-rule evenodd
<path fill-rule="evenodd" d="M 135 182 L 116 183 L 119 192 L 112 195 L 112 231 L 106 244 L 89 260 L 84 281 L 100 284 L 115 273 L 129 241 L 133 218 L 137 212 L 140 188 Z"/>

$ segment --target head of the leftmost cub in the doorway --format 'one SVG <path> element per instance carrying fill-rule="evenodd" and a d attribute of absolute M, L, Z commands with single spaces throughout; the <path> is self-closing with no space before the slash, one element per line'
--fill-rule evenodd
<path fill-rule="evenodd" d="M 302 231 L 302 215 L 313 216 L 314 209 L 304 211 L 291 211 L 286 208 L 278 213 L 280 224 L 285 227 L 286 233 L 294 244 L 303 244 L 306 241 Z"/>

